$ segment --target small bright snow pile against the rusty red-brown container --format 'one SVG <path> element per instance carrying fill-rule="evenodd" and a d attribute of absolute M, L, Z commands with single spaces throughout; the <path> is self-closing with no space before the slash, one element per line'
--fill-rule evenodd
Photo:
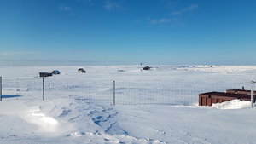
<path fill-rule="evenodd" d="M 251 101 L 240 101 L 240 100 L 232 100 L 226 101 L 222 103 L 213 104 L 212 107 L 217 109 L 241 109 L 241 108 L 249 108 L 251 107 Z"/>

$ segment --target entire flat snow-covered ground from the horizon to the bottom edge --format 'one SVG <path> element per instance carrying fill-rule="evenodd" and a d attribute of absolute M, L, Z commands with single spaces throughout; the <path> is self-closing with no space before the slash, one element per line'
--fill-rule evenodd
<path fill-rule="evenodd" d="M 256 142 L 250 102 L 197 106 L 200 92 L 250 89 L 256 66 L 79 67 L 1 66 L 0 143 Z M 55 69 L 41 101 L 38 72 Z"/>

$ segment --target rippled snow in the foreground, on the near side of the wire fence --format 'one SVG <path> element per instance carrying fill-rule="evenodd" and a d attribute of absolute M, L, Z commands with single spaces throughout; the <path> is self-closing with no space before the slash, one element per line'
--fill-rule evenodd
<path fill-rule="evenodd" d="M 253 143 L 255 109 L 2 101 L 1 143 Z M 14 107 L 16 109 L 14 109 Z M 9 110 L 9 111 L 7 111 Z"/>

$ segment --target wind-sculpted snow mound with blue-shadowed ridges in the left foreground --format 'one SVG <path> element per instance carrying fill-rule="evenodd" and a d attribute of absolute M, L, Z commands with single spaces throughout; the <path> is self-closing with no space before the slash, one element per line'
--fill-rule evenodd
<path fill-rule="evenodd" d="M 96 105 L 86 99 L 3 101 L 0 143 L 12 141 L 13 137 L 16 140 L 10 143 L 15 144 L 166 143 L 151 136 L 130 135 L 119 124 L 118 115 L 114 107 Z"/>

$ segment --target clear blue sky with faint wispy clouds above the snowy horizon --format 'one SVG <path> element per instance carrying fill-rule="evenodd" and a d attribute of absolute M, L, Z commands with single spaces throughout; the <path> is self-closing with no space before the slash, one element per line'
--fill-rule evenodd
<path fill-rule="evenodd" d="M 0 0 L 0 61 L 256 65 L 256 1 Z"/>

